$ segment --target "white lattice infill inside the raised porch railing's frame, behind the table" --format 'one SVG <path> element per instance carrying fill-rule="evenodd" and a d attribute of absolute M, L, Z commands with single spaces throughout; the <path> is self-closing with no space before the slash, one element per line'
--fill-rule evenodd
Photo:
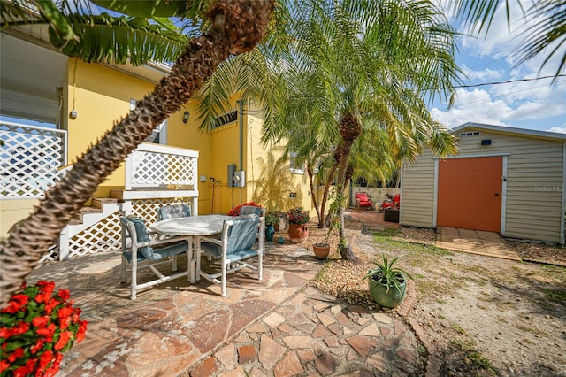
<path fill-rule="evenodd" d="M 134 150 L 132 187 L 192 185 L 197 158 Z"/>

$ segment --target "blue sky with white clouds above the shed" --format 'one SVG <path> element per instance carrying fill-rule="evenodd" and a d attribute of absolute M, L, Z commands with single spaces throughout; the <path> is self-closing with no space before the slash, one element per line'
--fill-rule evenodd
<path fill-rule="evenodd" d="M 528 2 L 523 1 L 523 4 L 528 6 Z M 458 37 L 456 63 L 467 75 L 463 79 L 464 85 L 554 76 L 558 62 L 566 54 L 566 46 L 562 46 L 562 50 L 541 71 L 546 54 L 522 65 L 515 64 L 515 51 L 522 42 L 520 32 L 524 27 L 535 27 L 537 22 L 525 24 L 516 2 L 511 1 L 509 5 L 510 33 L 505 4 L 501 2 L 487 35 Z M 452 25 L 457 24 L 455 19 L 450 21 Z M 434 104 L 431 106 L 432 115 L 449 128 L 476 122 L 566 134 L 566 77 L 559 77 L 552 85 L 551 81 L 457 88 L 455 106 L 447 110 L 446 104 Z"/>

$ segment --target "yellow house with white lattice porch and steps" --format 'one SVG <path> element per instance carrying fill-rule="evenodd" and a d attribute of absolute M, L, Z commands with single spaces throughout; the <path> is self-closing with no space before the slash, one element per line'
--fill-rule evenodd
<path fill-rule="evenodd" d="M 134 108 L 169 65 L 87 64 L 53 50 L 46 30 L 1 34 L 0 236 L 33 211 L 44 190 Z M 312 209 L 306 173 L 278 164 L 282 147 L 260 143 L 262 112 L 237 96 L 214 129 L 200 132 L 195 100 L 157 127 L 101 184 L 92 206 L 66 227 L 57 257 L 119 247 L 119 221 L 155 221 L 175 200 L 198 214 L 254 201 L 268 211 Z M 291 167 L 294 167 L 292 169 Z M 235 178 L 234 178 L 235 177 Z"/>

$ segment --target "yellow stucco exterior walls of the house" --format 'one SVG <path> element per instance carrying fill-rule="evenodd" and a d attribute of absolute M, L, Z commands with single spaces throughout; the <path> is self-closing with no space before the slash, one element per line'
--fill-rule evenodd
<path fill-rule="evenodd" d="M 61 127 L 68 130 L 68 164 L 73 164 L 90 146 L 113 127 L 130 110 L 131 99 L 142 99 L 154 88 L 154 84 L 104 65 L 87 64 L 69 58 L 63 81 L 63 110 Z M 232 109 L 236 110 L 234 96 Z M 227 165 L 239 164 L 239 120 L 212 132 L 198 130 L 196 101 L 185 104 L 180 112 L 168 119 L 167 144 L 199 151 L 199 213 L 226 213 L 233 206 L 255 200 L 269 211 L 286 211 L 294 205 L 311 209 L 309 185 L 306 175 L 291 174 L 288 162 L 275 164 L 280 148 L 261 145 L 263 119 L 259 109 L 245 104 L 243 118 L 243 170 L 246 171 L 245 188 L 227 187 Z M 72 118 L 70 112 L 77 112 Z M 191 117 L 183 123 L 183 112 Z M 239 115 L 240 117 L 240 115 Z M 104 181 L 96 191 L 96 197 L 109 197 L 113 188 L 124 188 L 124 166 Z M 212 182 L 213 177 L 217 182 Z M 275 179 L 273 179 L 275 178 Z M 218 183 L 219 181 L 219 183 Z M 290 198 L 290 193 L 296 198 Z M 33 203 L 33 204 L 29 204 Z M 25 218 L 32 210 L 33 201 L 3 201 L 2 235 L 11 224 Z M 4 206 L 10 210 L 4 211 Z M 19 206 L 18 211 L 12 207 Z M 10 212 L 10 214 L 4 214 Z M 311 212 L 314 214 L 314 212 Z"/>

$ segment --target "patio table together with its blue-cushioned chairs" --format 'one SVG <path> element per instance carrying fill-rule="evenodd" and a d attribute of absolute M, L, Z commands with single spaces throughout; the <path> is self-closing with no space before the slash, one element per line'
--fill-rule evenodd
<path fill-rule="evenodd" d="M 122 226 L 121 282 L 126 270 L 131 272 L 131 299 L 137 291 L 187 276 L 194 283 L 201 277 L 221 285 L 226 296 L 226 278 L 241 268 L 256 269 L 262 280 L 265 250 L 265 211 L 258 207 L 242 207 L 240 216 L 191 216 L 187 204 L 170 204 L 157 211 L 157 222 L 149 227 L 133 215 L 120 218 Z M 149 228 L 149 230 L 148 230 Z M 187 255 L 187 271 L 177 273 L 177 257 Z M 201 269 L 201 258 L 219 259 L 218 273 Z M 256 264 L 250 258 L 257 257 Z M 157 265 L 171 264 L 172 274 L 165 275 Z M 138 283 L 138 271 L 149 268 L 157 278 Z"/>

